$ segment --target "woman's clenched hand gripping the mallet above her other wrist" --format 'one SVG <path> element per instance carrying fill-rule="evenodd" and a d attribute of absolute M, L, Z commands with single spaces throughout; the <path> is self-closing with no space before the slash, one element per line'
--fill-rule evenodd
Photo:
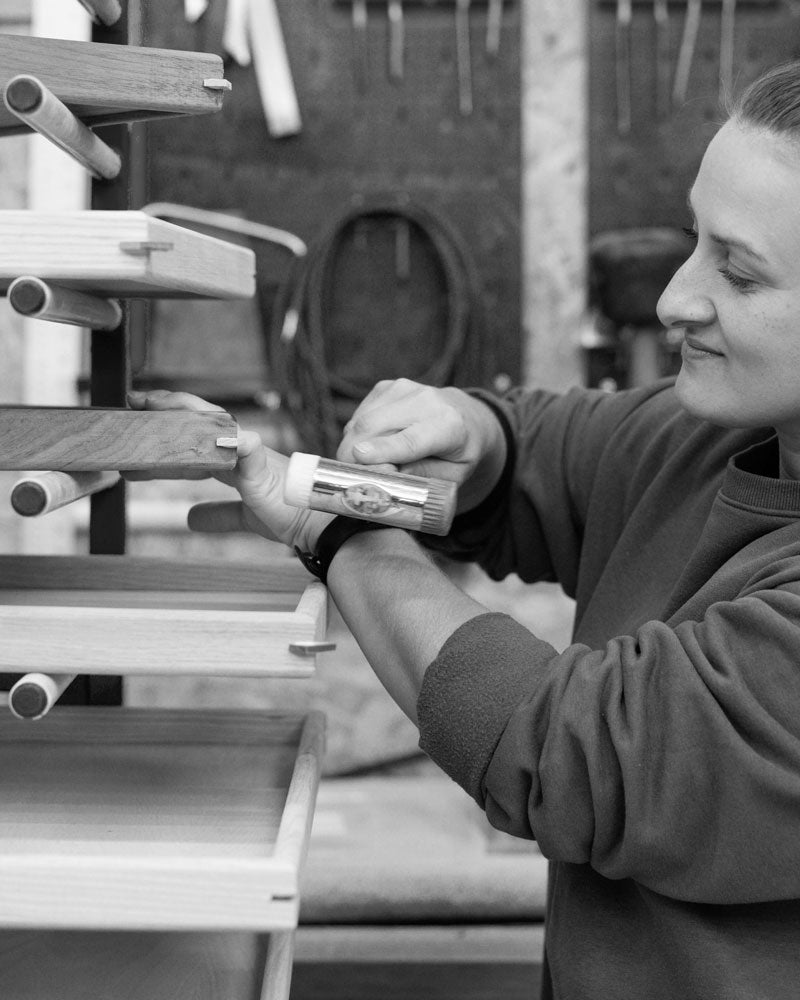
<path fill-rule="evenodd" d="M 396 379 L 379 382 L 359 404 L 337 458 L 458 483 L 463 511 L 500 478 L 506 444 L 494 413 L 474 396 Z"/>

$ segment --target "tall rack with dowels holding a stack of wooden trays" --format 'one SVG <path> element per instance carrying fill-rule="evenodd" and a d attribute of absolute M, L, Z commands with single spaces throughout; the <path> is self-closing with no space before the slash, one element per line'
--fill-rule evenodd
<path fill-rule="evenodd" d="M 100 975 L 116 962 L 119 996 L 173 996 L 169 976 L 151 975 L 151 935 L 180 962 L 187 933 L 247 932 L 263 942 L 248 995 L 285 1000 L 322 718 L 97 707 L 121 704 L 127 673 L 302 678 L 329 648 L 327 592 L 288 556 L 262 571 L 124 554 L 119 470 L 236 461 L 230 415 L 133 411 L 125 398 L 136 300 L 254 294 L 250 249 L 131 210 L 146 201 L 132 123 L 217 112 L 230 85 L 218 56 L 140 47 L 133 0 L 81 2 L 90 43 L 0 35 L 0 136 L 37 131 L 95 178 L 91 211 L 0 212 L 13 308 L 91 330 L 89 407 L 0 406 L 0 467 L 43 470 L 22 485 L 21 512 L 91 502 L 88 556 L 0 557 L 0 671 L 28 671 L 25 719 L 0 725 L 0 993 L 106 995 L 92 957 L 102 931 Z M 91 707 L 50 711 L 76 675 Z M 16 933 L 65 930 L 57 949 L 26 937 L 39 957 L 18 962 Z M 50 958 L 62 948 L 76 956 L 68 982 Z"/>

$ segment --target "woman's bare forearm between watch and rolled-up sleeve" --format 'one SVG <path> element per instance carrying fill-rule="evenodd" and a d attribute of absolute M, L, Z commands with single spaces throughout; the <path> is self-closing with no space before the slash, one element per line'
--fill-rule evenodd
<path fill-rule="evenodd" d="M 348 539 L 331 563 L 328 587 L 372 669 L 416 724 L 427 667 L 457 628 L 487 609 L 398 529 Z"/>

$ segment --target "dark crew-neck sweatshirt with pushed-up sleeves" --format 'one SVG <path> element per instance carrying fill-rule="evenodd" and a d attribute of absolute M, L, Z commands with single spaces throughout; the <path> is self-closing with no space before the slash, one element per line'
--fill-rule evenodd
<path fill-rule="evenodd" d="M 558 581 L 563 652 L 458 629 L 420 745 L 551 861 L 544 997 L 800 997 L 800 482 L 671 382 L 504 401 L 513 475 L 443 547 Z"/>

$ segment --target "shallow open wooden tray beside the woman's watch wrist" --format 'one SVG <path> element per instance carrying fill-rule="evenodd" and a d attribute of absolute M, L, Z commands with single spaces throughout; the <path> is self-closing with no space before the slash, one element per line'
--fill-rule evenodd
<path fill-rule="evenodd" d="M 290 557 L 0 556 L 0 673 L 308 677 L 326 623 Z"/>

